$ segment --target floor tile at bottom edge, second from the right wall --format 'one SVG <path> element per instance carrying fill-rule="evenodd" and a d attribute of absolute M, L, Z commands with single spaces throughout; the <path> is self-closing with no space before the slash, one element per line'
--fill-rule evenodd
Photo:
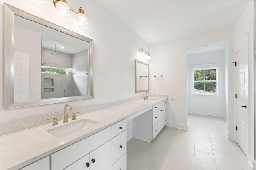
<path fill-rule="evenodd" d="M 240 170 L 233 154 L 227 154 L 218 150 L 213 150 L 213 152 L 218 170 Z"/>

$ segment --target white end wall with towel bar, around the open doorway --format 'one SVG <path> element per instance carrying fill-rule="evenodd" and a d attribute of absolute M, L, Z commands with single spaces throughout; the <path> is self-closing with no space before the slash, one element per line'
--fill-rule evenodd
<path fill-rule="evenodd" d="M 162 74 L 163 78 L 151 76 L 150 91 L 153 94 L 168 95 L 167 125 L 187 129 L 187 48 L 220 41 L 228 41 L 228 51 L 232 51 L 234 47 L 233 27 L 151 45 L 151 75 Z M 227 68 L 230 72 L 228 82 L 234 82 L 232 57 L 232 53 L 228 52 Z M 228 89 L 229 93 L 234 92 L 233 83 L 228 84 Z M 232 113 L 234 97 L 229 99 L 228 106 Z"/>

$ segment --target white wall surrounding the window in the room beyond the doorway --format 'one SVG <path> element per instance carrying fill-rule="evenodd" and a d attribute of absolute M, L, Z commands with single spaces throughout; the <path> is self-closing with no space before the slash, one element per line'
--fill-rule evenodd
<path fill-rule="evenodd" d="M 188 113 L 221 116 L 227 119 L 225 105 L 225 51 L 188 55 Z M 193 94 L 193 68 L 218 66 L 217 95 Z"/>

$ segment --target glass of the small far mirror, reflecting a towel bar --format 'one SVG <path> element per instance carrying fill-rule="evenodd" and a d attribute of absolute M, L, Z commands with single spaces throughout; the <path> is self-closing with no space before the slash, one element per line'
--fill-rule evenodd
<path fill-rule="evenodd" d="M 149 67 L 147 63 L 135 60 L 135 93 L 149 91 Z"/>

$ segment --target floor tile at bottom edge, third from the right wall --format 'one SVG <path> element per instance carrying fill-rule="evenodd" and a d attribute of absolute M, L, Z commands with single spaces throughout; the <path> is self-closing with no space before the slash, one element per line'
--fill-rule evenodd
<path fill-rule="evenodd" d="M 194 170 L 216 170 L 214 156 L 195 150 Z"/>

